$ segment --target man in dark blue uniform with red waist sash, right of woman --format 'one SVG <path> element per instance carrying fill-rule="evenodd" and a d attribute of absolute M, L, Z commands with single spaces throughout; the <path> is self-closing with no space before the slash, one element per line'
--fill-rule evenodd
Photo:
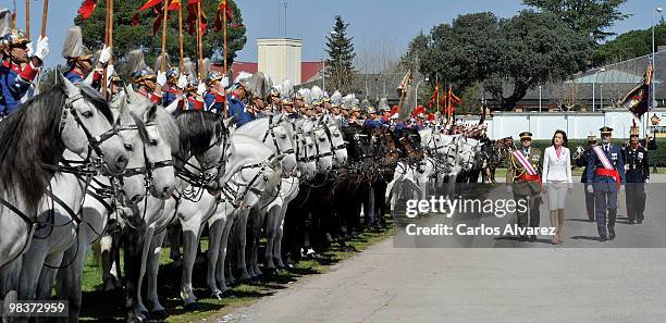
<path fill-rule="evenodd" d="M 602 144 L 592 147 L 593 153 L 588 161 L 587 190 L 594 192 L 596 209 L 596 229 L 600 241 L 615 239 L 615 218 L 617 215 L 617 192 L 625 183 L 625 161 L 619 147 L 610 144 L 613 128 L 604 126 L 600 129 Z M 607 212 L 607 213 L 606 213 Z M 606 223 L 606 214 L 608 222 Z"/>

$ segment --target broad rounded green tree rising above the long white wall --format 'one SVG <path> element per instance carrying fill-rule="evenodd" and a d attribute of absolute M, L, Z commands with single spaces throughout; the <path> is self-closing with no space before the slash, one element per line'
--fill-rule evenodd
<path fill-rule="evenodd" d="M 444 76 L 464 91 L 483 83 L 501 110 L 511 110 L 530 88 L 580 71 L 589 58 L 588 40 L 543 12 L 509 20 L 490 12 L 460 15 L 427 38 L 417 36 L 404 61 L 418 57 L 421 74 Z"/>

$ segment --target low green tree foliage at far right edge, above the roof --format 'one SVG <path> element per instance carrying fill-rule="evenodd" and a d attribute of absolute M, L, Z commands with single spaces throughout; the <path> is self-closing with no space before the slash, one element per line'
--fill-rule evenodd
<path fill-rule="evenodd" d="M 666 45 L 666 23 L 654 28 L 655 47 Z M 600 46 L 594 52 L 596 64 L 615 63 L 652 53 L 652 28 L 631 30 Z M 656 48 L 655 48 L 656 50 Z"/>

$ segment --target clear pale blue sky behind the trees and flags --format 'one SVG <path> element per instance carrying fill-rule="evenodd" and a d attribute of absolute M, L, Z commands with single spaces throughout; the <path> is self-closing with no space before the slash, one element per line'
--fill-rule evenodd
<path fill-rule="evenodd" d="M 145 0 L 120 1 L 136 2 L 137 9 L 145 2 Z M 248 42 L 238 53 L 238 60 L 256 61 L 257 38 L 284 35 L 284 9 L 281 5 L 284 1 L 236 1 L 240 7 L 248 36 Z M 13 0 L 0 0 L 0 7 L 11 9 L 13 2 Z M 303 39 L 304 61 L 322 58 L 323 39 L 331 30 L 333 16 L 336 14 L 342 15 L 350 24 L 348 33 L 354 37 L 359 59 L 362 60 L 365 57 L 366 61 L 375 61 L 380 55 L 398 57 L 420 30 L 428 33 L 432 26 L 451 22 L 459 14 L 491 11 L 496 15 L 508 17 L 525 9 L 520 0 L 287 0 L 286 2 L 286 36 Z M 42 3 L 42 0 L 30 0 L 33 35 L 39 33 Z M 53 66 L 62 61 L 60 55 L 62 42 L 81 3 L 81 0 L 50 0 L 47 34 L 51 39 L 51 53 L 47 59 L 47 66 Z M 16 0 L 16 5 L 17 26 L 23 29 L 25 1 Z M 621 34 L 650 27 L 652 10 L 655 7 L 666 8 L 666 0 L 627 1 L 622 10 L 632 16 L 617 23 L 612 32 Z M 282 22 L 281 28 L 279 20 Z"/>

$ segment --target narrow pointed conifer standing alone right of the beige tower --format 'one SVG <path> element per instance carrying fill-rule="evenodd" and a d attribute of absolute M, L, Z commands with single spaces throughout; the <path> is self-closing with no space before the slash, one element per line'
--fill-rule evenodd
<path fill-rule="evenodd" d="M 329 76 L 326 80 L 330 82 L 332 88 L 338 89 L 343 92 L 349 92 L 353 90 L 354 78 L 356 77 L 356 71 L 354 70 L 354 44 L 351 40 L 354 37 L 347 37 L 347 27 L 349 24 L 345 23 L 342 16 L 335 16 L 335 26 L 333 33 L 326 36 L 326 52 L 329 59 L 326 60 L 326 67 L 329 70 Z"/>

